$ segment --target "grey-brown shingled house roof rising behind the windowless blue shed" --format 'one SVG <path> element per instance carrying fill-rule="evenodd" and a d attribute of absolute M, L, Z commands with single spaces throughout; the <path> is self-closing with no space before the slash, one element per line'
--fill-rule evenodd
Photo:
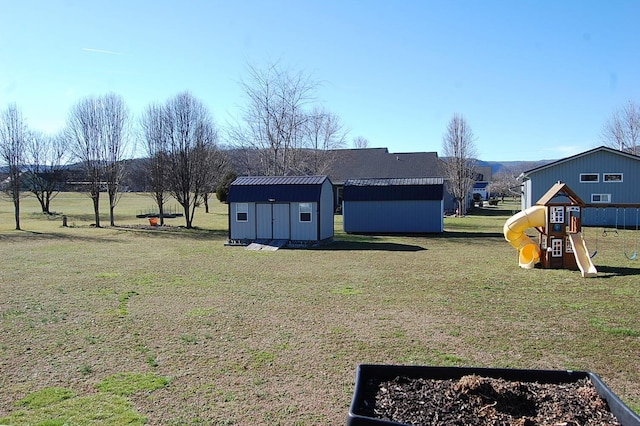
<path fill-rule="evenodd" d="M 338 184 L 347 179 L 442 177 L 436 152 L 390 153 L 387 148 L 336 149 L 327 173 Z"/>

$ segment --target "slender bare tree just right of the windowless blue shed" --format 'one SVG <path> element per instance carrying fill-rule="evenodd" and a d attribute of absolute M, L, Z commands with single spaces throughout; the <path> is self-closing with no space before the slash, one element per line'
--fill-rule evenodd
<path fill-rule="evenodd" d="M 454 114 L 442 139 L 444 177 L 458 205 L 458 215 L 466 212 L 466 201 L 475 182 L 475 136 L 467 120 Z"/>

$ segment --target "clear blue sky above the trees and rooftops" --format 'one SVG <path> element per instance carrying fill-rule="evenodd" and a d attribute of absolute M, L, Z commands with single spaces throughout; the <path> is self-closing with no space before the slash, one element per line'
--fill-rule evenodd
<path fill-rule="evenodd" d="M 139 114 L 189 90 L 220 127 L 247 64 L 279 61 L 371 147 L 441 151 L 454 113 L 488 161 L 602 145 L 640 103 L 640 1 L 0 0 L 0 108 L 55 131 L 115 92 Z"/>

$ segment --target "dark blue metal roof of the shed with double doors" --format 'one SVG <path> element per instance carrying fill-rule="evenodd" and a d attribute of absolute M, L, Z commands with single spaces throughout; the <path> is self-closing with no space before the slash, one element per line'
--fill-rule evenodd
<path fill-rule="evenodd" d="M 320 199 L 327 176 L 240 176 L 231 183 L 227 201 L 312 202 Z"/>

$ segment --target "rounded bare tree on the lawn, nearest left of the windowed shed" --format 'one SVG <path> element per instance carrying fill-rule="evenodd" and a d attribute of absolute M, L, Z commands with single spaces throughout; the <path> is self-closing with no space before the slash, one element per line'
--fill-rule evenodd
<path fill-rule="evenodd" d="M 206 190 L 209 153 L 218 133 L 206 107 L 190 93 L 170 99 L 164 111 L 168 148 L 168 184 L 182 206 L 187 228 L 193 227 L 198 201 Z"/>

